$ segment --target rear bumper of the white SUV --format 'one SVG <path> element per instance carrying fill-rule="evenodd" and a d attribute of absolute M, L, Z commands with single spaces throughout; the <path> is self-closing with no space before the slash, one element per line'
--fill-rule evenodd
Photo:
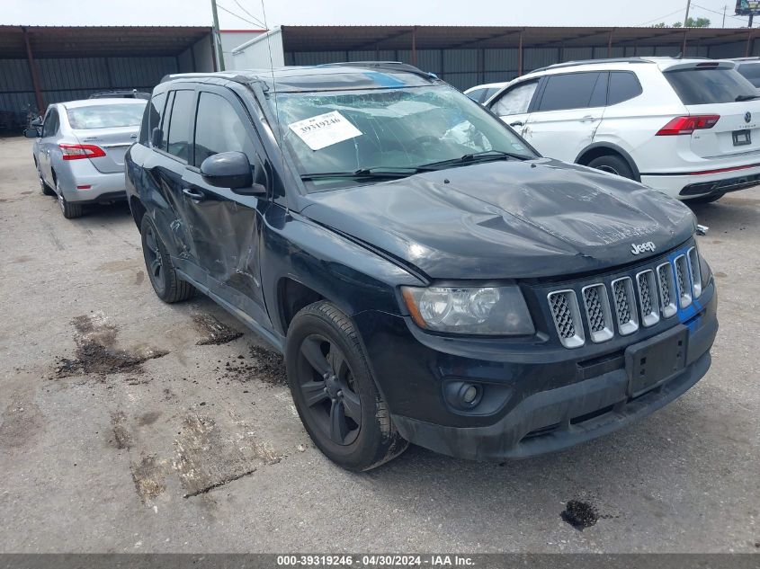
<path fill-rule="evenodd" d="M 716 173 L 641 174 L 641 183 L 679 200 L 744 190 L 760 183 L 760 166 Z"/>

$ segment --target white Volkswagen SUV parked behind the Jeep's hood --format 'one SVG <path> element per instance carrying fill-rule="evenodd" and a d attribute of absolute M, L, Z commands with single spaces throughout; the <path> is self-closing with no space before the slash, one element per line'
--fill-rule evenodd
<path fill-rule="evenodd" d="M 760 182 L 760 95 L 735 67 L 677 58 L 559 64 L 515 79 L 486 106 L 544 156 L 714 201 Z"/>

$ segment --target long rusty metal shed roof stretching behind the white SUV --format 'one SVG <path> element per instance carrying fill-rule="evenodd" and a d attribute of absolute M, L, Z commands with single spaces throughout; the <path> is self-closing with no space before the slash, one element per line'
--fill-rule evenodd
<path fill-rule="evenodd" d="M 742 28 L 629 28 L 524 26 L 282 26 L 285 51 L 346 49 L 514 48 L 523 47 L 714 45 L 747 41 Z"/>

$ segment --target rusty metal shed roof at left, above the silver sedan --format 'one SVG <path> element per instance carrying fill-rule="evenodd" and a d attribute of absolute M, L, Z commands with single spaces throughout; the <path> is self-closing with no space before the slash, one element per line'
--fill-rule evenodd
<path fill-rule="evenodd" d="M 198 26 L 0 26 L 3 58 L 25 58 L 24 30 L 35 58 L 176 56 L 208 37 Z"/>

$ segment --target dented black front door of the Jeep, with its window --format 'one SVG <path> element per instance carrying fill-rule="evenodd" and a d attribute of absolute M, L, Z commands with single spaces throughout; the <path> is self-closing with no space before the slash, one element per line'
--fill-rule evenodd
<path fill-rule="evenodd" d="M 269 187 L 264 149 L 243 104 L 225 87 L 199 87 L 194 133 L 192 165 L 183 175 L 183 212 L 194 254 L 212 292 L 265 324 L 259 244 L 269 201 L 211 186 L 200 169 L 215 154 L 243 152 L 255 182 Z"/>

